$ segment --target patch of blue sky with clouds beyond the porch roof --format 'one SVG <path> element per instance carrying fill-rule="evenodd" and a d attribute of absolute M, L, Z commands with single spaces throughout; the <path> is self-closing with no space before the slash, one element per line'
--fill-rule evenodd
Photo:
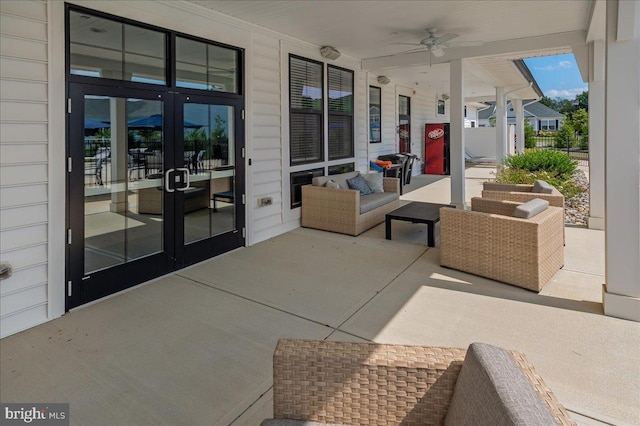
<path fill-rule="evenodd" d="M 524 62 L 538 82 L 545 96 L 555 99 L 574 99 L 588 90 L 582 81 L 573 53 L 528 58 Z"/>

